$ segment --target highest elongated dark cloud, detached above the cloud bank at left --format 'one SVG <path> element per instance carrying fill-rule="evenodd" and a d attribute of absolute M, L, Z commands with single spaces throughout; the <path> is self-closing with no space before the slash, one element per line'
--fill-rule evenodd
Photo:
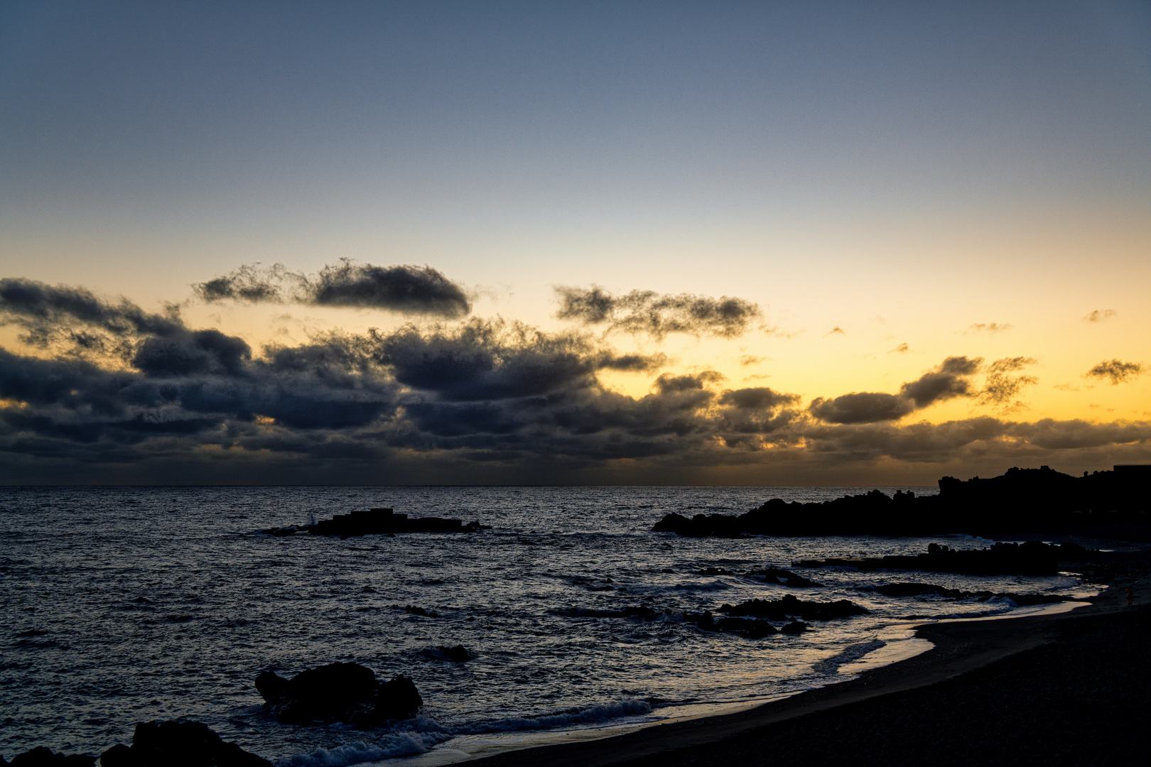
<path fill-rule="evenodd" d="M 283 302 L 387 309 L 447 319 L 472 310 L 466 291 L 432 267 L 376 267 L 341 259 L 318 275 L 289 271 L 283 264 L 242 266 L 222 277 L 192 285 L 205 301 Z"/>

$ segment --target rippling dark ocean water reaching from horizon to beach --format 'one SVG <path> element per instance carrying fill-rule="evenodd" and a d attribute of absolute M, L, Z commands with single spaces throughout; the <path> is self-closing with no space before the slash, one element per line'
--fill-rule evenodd
<path fill-rule="evenodd" d="M 752 705 L 922 650 L 909 629 L 925 620 L 1038 609 L 1009 599 L 889 598 L 877 584 L 1097 591 L 1074 574 L 799 570 L 824 584 L 807 589 L 740 574 L 825 555 L 988 544 L 969 536 L 695 539 L 649 531 L 670 512 L 741 513 L 775 497 L 813 501 L 866 490 L 3 488 L 0 753 L 10 759 L 46 745 L 98 754 L 130 743 L 139 721 L 188 718 L 282 767 L 437 764 Z M 378 506 L 491 529 L 346 539 L 260 532 Z M 761 639 L 701 631 L 680 615 L 786 593 L 849 599 L 871 614 Z M 662 614 L 602 616 L 635 605 Z M 473 659 L 453 662 L 437 650 L 457 644 Z M 422 714 L 357 731 L 281 724 L 264 711 L 253 683 L 261 670 L 291 676 L 336 661 L 363 664 L 383 680 L 410 676 Z"/>

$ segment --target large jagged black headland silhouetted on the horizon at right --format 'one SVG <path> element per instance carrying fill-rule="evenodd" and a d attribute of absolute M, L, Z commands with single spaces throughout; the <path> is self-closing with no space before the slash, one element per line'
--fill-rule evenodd
<path fill-rule="evenodd" d="M 915 536 L 1080 531 L 1151 540 L 1151 466 L 1115 466 L 1075 477 L 1046 466 L 998 477 L 939 480 L 939 494 L 878 490 L 823 503 L 768 500 L 746 514 L 668 514 L 651 528 L 691 537 Z"/>

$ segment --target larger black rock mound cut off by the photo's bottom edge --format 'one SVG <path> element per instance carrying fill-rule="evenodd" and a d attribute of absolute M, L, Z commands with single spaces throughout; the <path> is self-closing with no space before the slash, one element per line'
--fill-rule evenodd
<path fill-rule="evenodd" d="M 272 767 L 272 762 L 224 743 L 207 724 L 169 721 L 140 722 L 131 747 L 112 746 L 100 754 L 100 767 Z"/>

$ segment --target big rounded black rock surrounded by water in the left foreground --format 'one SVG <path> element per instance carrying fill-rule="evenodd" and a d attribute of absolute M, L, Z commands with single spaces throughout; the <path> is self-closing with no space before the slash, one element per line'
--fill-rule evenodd
<path fill-rule="evenodd" d="M 416 684 L 406 676 L 379 682 L 375 672 L 359 664 L 328 664 L 290 680 L 275 672 L 261 672 L 256 689 L 276 718 L 288 724 L 340 721 L 371 729 L 388 720 L 411 719 L 424 705 Z"/>

